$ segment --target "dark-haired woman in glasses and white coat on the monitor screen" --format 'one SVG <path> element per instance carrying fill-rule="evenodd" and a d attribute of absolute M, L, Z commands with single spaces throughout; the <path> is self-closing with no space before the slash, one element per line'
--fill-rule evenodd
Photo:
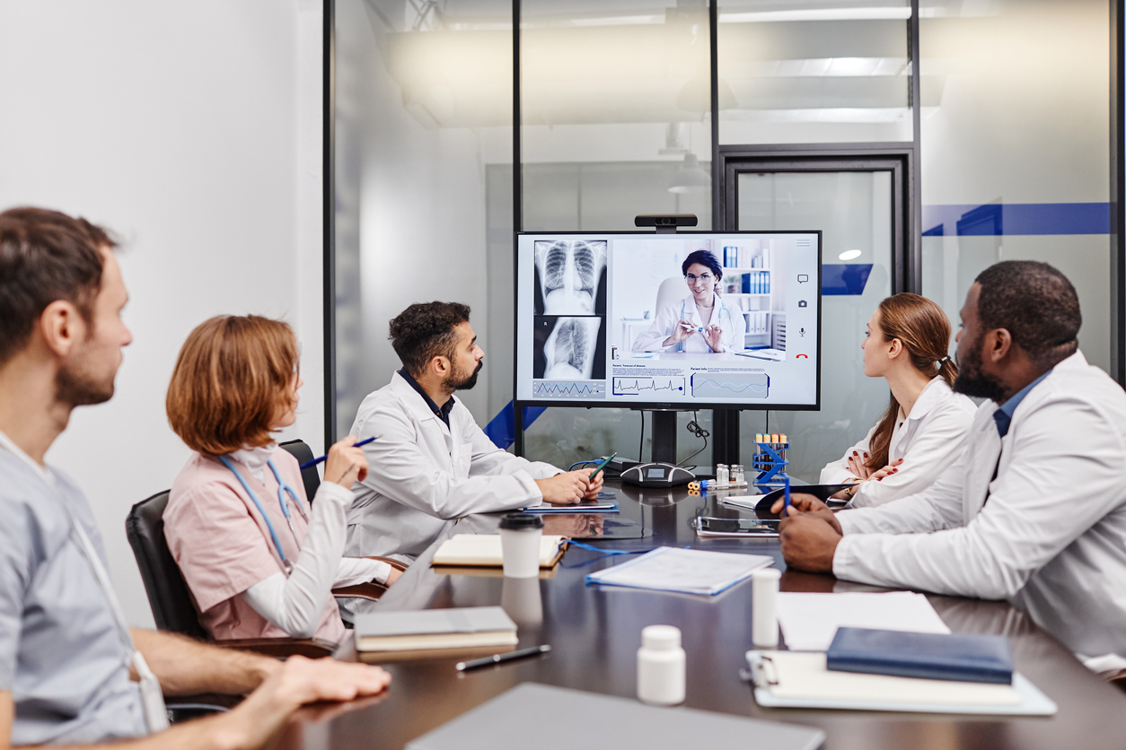
<path fill-rule="evenodd" d="M 720 298 L 723 266 L 707 250 L 689 253 L 680 265 L 688 295 L 656 311 L 656 319 L 637 336 L 635 352 L 713 354 L 743 349 L 743 313 Z"/>

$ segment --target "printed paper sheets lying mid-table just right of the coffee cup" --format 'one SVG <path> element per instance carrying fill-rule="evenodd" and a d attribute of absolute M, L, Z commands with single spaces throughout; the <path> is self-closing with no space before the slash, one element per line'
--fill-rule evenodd
<path fill-rule="evenodd" d="M 713 596 L 771 562 L 774 558 L 761 554 L 659 546 L 629 562 L 591 573 L 587 581 Z"/>

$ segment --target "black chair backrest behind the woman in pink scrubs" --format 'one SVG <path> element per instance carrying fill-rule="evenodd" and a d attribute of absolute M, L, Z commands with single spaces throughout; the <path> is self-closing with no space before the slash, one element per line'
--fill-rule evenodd
<path fill-rule="evenodd" d="M 141 580 L 149 595 L 152 616 L 160 630 L 199 640 L 211 640 L 196 614 L 188 585 L 164 540 L 164 506 L 168 490 L 157 493 L 129 509 L 125 535 L 141 569 Z"/>

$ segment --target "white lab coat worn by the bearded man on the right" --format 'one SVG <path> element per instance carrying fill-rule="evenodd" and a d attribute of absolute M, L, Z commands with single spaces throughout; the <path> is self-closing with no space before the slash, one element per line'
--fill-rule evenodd
<path fill-rule="evenodd" d="M 995 410 L 982 404 L 962 460 L 927 490 L 837 515 L 833 573 L 1007 598 L 1080 654 L 1126 656 L 1126 394 L 1076 352 L 1003 440 Z"/>

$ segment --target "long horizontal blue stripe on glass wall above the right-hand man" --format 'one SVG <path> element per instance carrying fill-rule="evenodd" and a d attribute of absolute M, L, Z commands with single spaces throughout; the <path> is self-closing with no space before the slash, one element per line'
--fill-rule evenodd
<path fill-rule="evenodd" d="M 1110 204 L 984 204 L 922 207 L 924 237 L 1110 234 Z"/>

